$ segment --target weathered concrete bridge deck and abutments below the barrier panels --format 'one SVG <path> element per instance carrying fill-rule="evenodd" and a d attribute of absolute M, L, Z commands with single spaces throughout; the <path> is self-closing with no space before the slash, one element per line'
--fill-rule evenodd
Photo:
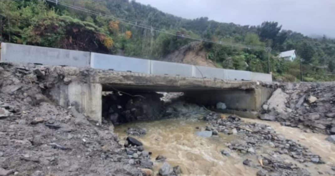
<path fill-rule="evenodd" d="M 126 78 L 126 79 L 125 79 Z M 130 93 L 183 92 L 192 103 L 215 106 L 226 104 L 227 109 L 258 111 L 271 96 L 272 88 L 255 81 L 225 81 L 170 76 L 91 77 L 89 83 L 73 81 L 59 84 L 51 95 L 63 107 L 74 106 L 93 120 L 102 121 L 102 93 L 121 91 Z"/>

